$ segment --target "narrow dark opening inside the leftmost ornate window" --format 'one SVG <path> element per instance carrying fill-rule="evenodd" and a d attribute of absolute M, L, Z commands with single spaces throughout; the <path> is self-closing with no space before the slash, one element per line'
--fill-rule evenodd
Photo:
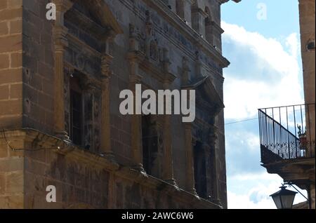
<path fill-rule="evenodd" d="M 70 79 L 70 139 L 82 144 L 82 91 L 77 78 Z"/>

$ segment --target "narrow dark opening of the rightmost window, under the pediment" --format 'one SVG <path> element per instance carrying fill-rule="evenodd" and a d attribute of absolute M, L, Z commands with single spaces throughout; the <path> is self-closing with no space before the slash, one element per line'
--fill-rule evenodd
<path fill-rule="evenodd" d="M 195 163 L 195 189 L 202 198 L 207 198 L 206 188 L 206 158 L 201 142 L 197 142 L 193 149 Z"/>

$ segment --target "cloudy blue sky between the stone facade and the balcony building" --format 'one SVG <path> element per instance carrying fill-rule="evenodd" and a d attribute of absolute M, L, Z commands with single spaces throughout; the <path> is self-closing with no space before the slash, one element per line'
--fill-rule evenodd
<path fill-rule="evenodd" d="M 298 0 L 229 1 L 222 27 L 231 62 L 224 69 L 228 208 L 275 208 L 269 195 L 282 179 L 260 165 L 256 117 L 258 108 L 303 102 Z"/>

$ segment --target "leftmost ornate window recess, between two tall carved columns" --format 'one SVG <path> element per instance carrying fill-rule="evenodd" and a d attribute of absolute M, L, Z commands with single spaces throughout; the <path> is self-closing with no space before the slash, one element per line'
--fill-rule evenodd
<path fill-rule="evenodd" d="M 84 74 L 65 75 L 65 126 L 73 144 L 100 150 L 100 90 Z"/>

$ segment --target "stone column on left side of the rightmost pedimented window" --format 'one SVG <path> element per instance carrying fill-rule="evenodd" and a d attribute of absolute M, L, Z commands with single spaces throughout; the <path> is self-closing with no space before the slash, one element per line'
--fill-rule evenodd
<path fill-rule="evenodd" d="M 195 171 L 193 161 L 193 147 L 195 142 L 192 140 L 192 124 L 185 123 L 185 157 L 187 166 L 185 168 L 185 190 L 197 196 L 195 190 Z"/>

